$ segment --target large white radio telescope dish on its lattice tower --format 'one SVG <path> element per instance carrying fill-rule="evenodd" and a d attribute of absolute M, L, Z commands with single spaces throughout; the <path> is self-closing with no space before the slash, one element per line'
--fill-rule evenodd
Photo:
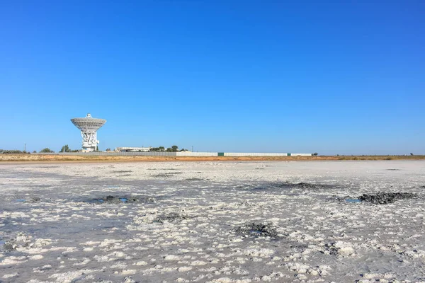
<path fill-rule="evenodd" d="M 84 118 L 71 119 L 71 122 L 81 131 L 83 152 L 96 151 L 96 146 L 99 143 L 96 131 L 106 123 L 106 120 L 91 117 L 89 113 Z"/>

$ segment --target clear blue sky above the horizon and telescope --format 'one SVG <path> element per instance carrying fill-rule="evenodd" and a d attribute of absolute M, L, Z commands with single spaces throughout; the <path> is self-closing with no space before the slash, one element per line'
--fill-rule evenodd
<path fill-rule="evenodd" d="M 0 149 L 425 154 L 424 1 L 64 2 L 1 1 Z"/>

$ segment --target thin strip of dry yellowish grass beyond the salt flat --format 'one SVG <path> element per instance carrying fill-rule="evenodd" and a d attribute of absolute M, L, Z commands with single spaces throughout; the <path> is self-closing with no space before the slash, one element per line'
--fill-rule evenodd
<path fill-rule="evenodd" d="M 0 162 L 423 160 L 425 156 L 79 156 L 0 154 Z"/>

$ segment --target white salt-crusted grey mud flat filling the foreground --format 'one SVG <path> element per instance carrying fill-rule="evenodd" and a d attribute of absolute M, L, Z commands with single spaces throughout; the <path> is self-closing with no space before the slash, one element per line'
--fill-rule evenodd
<path fill-rule="evenodd" d="M 425 161 L 1 163 L 0 282 L 425 282 L 424 185 Z M 375 192 L 418 197 L 345 201 Z"/>

